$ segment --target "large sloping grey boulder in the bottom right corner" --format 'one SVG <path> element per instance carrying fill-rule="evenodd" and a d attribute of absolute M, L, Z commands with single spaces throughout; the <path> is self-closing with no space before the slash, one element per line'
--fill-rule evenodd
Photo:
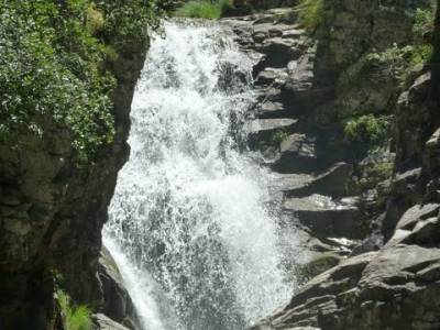
<path fill-rule="evenodd" d="M 439 249 L 397 245 L 361 254 L 311 279 L 252 329 L 433 330 L 440 326 L 439 270 Z"/>

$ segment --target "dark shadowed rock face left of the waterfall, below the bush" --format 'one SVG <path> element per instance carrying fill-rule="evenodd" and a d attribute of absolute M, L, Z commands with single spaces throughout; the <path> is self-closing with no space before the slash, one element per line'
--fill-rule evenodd
<path fill-rule="evenodd" d="M 118 80 L 117 133 L 95 164 L 78 167 L 67 129 L 50 120 L 42 139 L 20 135 L 20 147 L 14 141 L 0 145 L 1 329 L 52 329 L 54 271 L 74 301 L 103 308 L 97 272 L 101 229 L 129 155 L 131 100 L 146 52 L 136 47 L 109 68 Z"/>

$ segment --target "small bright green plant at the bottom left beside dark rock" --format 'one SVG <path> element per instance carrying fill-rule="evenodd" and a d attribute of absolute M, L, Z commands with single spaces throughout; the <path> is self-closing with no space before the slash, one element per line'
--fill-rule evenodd
<path fill-rule="evenodd" d="M 66 330 L 91 330 L 94 327 L 91 311 L 85 306 L 74 306 L 70 297 L 58 289 L 56 293 L 57 301 L 62 309 L 64 327 Z"/>

